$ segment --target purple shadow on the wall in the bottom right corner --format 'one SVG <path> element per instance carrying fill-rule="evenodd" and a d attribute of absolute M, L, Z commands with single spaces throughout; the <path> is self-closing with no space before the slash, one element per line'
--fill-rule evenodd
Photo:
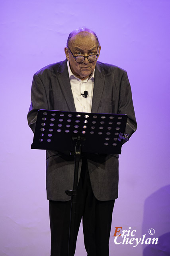
<path fill-rule="evenodd" d="M 155 233 L 149 234 L 150 229 Z M 158 244 L 144 244 L 143 256 L 170 256 L 170 185 L 160 188 L 145 201 L 142 234 L 146 234 L 146 238 L 158 238 Z"/>

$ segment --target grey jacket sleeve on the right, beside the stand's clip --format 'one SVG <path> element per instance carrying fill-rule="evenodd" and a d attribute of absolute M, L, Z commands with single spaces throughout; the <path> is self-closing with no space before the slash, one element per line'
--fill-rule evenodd
<path fill-rule="evenodd" d="M 127 114 L 127 124 L 125 128 L 125 134 L 129 134 L 129 138 L 137 129 L 137 122 L 135 118 L 135 111 L 133 108 L 133 100 L 131 93 L 131 86 L 129 83 L 129 79 L 127 76 L 127 72 L 124 71 L 123 76 L 121 78 L 120 85 L 120 95 L 119 95 L 119 109 L 118 114 Z M 125 140 L 123 140 L 125 143 Z"/>

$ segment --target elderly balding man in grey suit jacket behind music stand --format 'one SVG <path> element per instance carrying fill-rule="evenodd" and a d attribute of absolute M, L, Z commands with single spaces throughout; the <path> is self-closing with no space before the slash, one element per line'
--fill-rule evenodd
<path fill-rule="evenodd" d="M 39 109 L 127 114 L 125 133 L 137 123 L 125 70 L 98 62 L 101 46 L 96 34 L 81 28 L 70 33 L 66 60 L 35 73 L 28 123 L 35 130 Z M 84 91 L 87 91 L 84 97 Z M 51 256 L 66 256 L 74 159 L 69 152 L 47 150 L 46 188 L 51 227 Z M 78 176 L 75 242 L 81 219 L 88 256 L 109 255 L 112 212 L 118 196 L 118 155 L 82 154 Z"/>

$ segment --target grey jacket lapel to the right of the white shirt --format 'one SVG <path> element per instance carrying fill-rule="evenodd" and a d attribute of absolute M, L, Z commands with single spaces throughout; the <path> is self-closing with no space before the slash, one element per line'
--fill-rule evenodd
<path fill-rule="evenodd" d="M 102 67 L 97 62 L 94 74 L 94 89 L 91 113 L 97 113 L 104 89 L 105 76 L 102 74 Z"/>

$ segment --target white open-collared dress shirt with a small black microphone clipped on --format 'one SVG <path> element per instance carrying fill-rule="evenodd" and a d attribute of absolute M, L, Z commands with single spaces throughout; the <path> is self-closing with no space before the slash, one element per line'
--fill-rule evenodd
<path fill-rule="evenodd" d="M 76 111 L 90 113 L 92 109 L 94 71 L 90 77 L 82 81 L 72 73 L 69 61 L 67 62 L 67 66 Z M 84 94 L 84 91 L 88 91 L 87 98 L 81 95 Z"/>

